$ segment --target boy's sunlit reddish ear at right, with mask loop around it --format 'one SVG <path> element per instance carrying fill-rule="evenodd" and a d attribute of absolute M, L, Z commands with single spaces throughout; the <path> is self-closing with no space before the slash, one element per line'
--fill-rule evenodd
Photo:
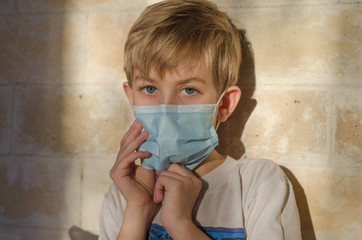
<path fill-rule="evenodd" d="M 217 111 L 216 121 L 225 122 L 233 113 L 241 97 L 241 90 L 238 86 L 228 87 L 222 97 Z"/>

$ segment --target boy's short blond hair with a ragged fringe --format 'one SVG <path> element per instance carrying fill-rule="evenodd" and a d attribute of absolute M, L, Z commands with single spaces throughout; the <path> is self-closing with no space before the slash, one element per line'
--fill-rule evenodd
<path fill-rule="evenodd" d="M 237 82 L 241 63 L 238 31 L 226 13 L 202 0 L 168 0 L 147 7 L 132 26 L 124 70 L 132 86 L 137 69 L 163 76 L 181 64 L 203 62 L 218 93 Z"/>

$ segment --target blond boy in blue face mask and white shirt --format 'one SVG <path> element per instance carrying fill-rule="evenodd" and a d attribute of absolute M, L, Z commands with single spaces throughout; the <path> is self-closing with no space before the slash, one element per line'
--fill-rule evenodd
<path fill-rule="evenodd" d="M 300 239 L 280 168 L 214 150 L 241 95 L 240 63 L 237 30 L 210 2 L 164 1 L 141 14 L 124 66 L 136 121 L 110 171 L 99 239 Z"/>

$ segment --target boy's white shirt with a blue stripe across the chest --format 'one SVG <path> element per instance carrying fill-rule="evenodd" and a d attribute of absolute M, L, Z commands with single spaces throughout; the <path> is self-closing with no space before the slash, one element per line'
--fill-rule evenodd
<path fill-rule="evenodd" d="M 227 157 L 203 176 L 202 182 L 193 216 L 210 238 L 301 239 L 292 185 L 274 162 Z M 112 184 L 102 206 L 99 240 L 117 238 L 125 206 L 125 199 Z M 149 239 L 171 239 L 162 226 L 160 212 L 150 227 Z"/>

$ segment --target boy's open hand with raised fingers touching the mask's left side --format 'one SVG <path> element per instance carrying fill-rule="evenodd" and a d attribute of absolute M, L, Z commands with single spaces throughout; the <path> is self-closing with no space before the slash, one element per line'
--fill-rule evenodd
<path fill-rule="evenodd" d="M 127 201 L 127 208 L 145 208 L 153 210 L 153 187 L 155 173 L 135 164 L 138 158 L 147 158 L 148 152 L 136 151 L 140 144 L 148 137 L 147 131 L 142 131 L 142 124 L 134 122 L 123 137 L 117 160 L 110 170 L 110 176 Z"/>

